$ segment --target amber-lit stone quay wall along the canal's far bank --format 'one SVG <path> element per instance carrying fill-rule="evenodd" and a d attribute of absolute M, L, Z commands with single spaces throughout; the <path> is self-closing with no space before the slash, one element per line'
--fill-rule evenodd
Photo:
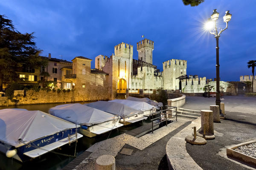
<path fill-rule="evenodd" d="M 28 90 L 14 93 L 13 100 L 8 100 L 9 105 L 30 105 L 46 103 L 65 103 L 108 100 L 108 90 L 104 88 L 94 88 L 91 90 L 75 89 L 70 91 L 46 91 Z M 0 97 L 0 106 L 7 105 L 7 97 Z"/>

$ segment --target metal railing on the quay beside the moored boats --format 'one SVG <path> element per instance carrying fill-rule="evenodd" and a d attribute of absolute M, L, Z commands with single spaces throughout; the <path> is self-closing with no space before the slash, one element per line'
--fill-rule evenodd
<path fill-rule="evenodd" d="M 177 121 L 177 107 L 174 107 L 174 106 L 165 106 L 165 107 L 166 107 L 165 110 L 157 111 L 149 115 L 149 119 L 152 124 L 152 133 L 154 133 L 154 125 L 158 125 L 161 123 L 163 125 L 163 123 L 165 122 L 167 126 L 168 120 L 170 120 L 172 116 L 176 116 L 176 121 Z M 171 117 L 169 118 L 169 116 Z"/>

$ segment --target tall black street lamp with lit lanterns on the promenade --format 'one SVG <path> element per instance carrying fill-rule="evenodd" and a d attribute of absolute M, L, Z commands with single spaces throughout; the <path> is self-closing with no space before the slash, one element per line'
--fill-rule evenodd
<path fill-rule="evenodd" d="M 218 20 L 219 13 L 217 12 L 217 9 L 213 10 L 213 13 L 211 15 L 211 19 L 208 19 L 205 28 L 207 28 L 210 32 L 210 34 L 213 34 L 216 38 L 216 105 L 220 108 L 220 116 L 224 117 L 224 114 L 221 113 L 221 96 L 220 96 L 220 65 L 219 65 L 219 46 L 218 46 L 218 40 L 220 37 L 221 32 L 223 32 L 225 29 L 227 29 L 228 22 L 231 20 L 231 14 L 229 11 L 226 11 L 226 14 L 223 17 L 224 22 L 226 23 L 226 28 L 222 29 L 219 28 L 219 32 L 217 30 L 216 21 Z M 213 32 L 212 32 L 213 31 Z"/>

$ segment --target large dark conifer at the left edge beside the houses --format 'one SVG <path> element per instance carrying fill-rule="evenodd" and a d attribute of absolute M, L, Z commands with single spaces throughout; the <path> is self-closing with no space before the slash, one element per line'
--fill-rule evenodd
<path fill-rule="evenodd" d="M 3 91 L 3 81 L 12 82 L 18 79 L 15 71 L 26 67 L 37 68 L 47 65 L 47 60 L 41 59 L 41 50 L 32 40 L 34 33 L 21 34 L 12 24 L 12 20 L 0 15 L 0 91 Z"/>

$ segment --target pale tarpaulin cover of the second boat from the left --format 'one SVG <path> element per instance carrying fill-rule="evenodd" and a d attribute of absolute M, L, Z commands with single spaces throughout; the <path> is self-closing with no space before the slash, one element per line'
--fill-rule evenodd
<path fill-rule="evenodd" d="M 77 125 L 95 125 L 118 119 L 118 116 L 80 103 L 58 105 L 51 108 L 49 113 Z"/>

